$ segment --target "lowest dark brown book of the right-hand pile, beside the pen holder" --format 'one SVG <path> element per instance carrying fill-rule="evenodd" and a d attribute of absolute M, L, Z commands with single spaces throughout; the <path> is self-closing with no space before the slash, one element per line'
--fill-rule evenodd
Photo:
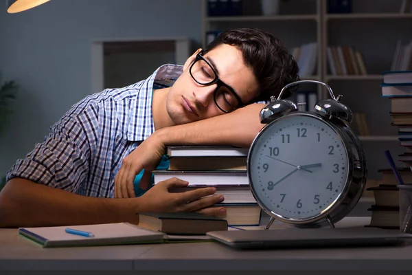
<path fill-rule="evenodd" d="M 371 221 L 367 226 L 399 229 L 399 207 L 373 205 L 368 211 L 371 211 Z"/>

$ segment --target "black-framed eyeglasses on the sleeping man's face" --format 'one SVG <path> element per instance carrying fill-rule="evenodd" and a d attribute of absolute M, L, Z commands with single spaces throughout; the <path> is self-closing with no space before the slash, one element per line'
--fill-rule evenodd
<path fill-rule="evenodd" d="M 209 86 L 215 83 L 218 85 L 214 91 L 214 102 L 222 112 L 230 113 L 244 106 L 236 91 L 219 79 L 216 70 L 202 56 L 202 52 L 196 54 L 189 72 L 193 80 L 200 85 Z"/>

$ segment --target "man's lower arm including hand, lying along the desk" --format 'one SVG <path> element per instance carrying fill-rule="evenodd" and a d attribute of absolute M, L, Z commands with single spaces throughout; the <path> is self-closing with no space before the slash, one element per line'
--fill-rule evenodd
<path fill-rule="evenodd" d="M 168 192 L 168 188 L 186 185 L 187 181 L 170 179 L 162 181 L 142 197 L 107 199 L 76 195 L 27 179 L 13 178 L 0 192 L 0 228 L 121 221 L 137 224 L 138 212 L 198 211 L 216 217 L 225 216 L 221 208 L 207 208 L 223 199 L 220 196 L 210 196 L 216 192 L 216 188 L 201 188 L 183 193 Z"/>

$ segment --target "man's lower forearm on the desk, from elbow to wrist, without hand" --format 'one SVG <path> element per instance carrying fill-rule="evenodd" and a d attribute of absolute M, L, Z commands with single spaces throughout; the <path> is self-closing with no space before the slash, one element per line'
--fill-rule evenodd
<path fill-rule="evenodd" d="M 137 223 L 130 199 L 85 197 L 13 178 L 0 192 L 0 227 Z"/>

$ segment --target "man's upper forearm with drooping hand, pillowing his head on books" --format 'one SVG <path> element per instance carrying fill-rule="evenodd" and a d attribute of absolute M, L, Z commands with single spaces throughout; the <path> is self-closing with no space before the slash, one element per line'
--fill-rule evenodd
<path fill-rule="evenodd" d="M 251 146 L 264 126 L 260 123 L 259 115 L 264 106 L 265 104 L 249 104 L 231 113 L 155 131 L 123 159 L 115 177 L 115 197 L 135 197 L 133 180 L 143 168 L 145 173 L 140 186 L 148 189 L 152 170 L 159 164 L 168 145 Z"/>

